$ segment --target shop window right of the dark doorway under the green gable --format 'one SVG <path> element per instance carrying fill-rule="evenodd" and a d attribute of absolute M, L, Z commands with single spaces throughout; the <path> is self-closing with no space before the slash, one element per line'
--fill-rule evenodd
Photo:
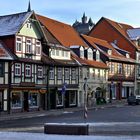
<path fill-rule="evenodd" d="M 38 93 L 30 93 L 29 96 L 29 106 L 38 106 Z"/>

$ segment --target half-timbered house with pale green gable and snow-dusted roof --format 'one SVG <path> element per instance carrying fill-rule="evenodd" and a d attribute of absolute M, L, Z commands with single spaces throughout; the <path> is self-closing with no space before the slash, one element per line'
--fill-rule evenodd
<path fill-rule="evenodd" d="M 43 65 L 41 57 L 46 38 L 35 13 L 27 11 L 0 16 L 0 39 L 17 57 L 9 71 L 10 110 L 44 108 L 47 66 Z"/>

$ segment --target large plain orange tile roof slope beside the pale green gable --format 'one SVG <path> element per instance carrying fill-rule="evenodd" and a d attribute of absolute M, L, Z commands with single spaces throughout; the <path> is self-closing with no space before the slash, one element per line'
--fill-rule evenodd
<path fill-rule="evenodd" d="M 37 18 L 63 46 L 80 45 L 87 47 L 72 26 L 41 15 L 37 15 Z"/>

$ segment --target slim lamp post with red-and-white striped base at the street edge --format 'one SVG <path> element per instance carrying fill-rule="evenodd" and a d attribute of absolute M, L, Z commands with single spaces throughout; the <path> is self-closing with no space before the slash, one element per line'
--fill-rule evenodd
<path fill-rule="evenodd" d="M 84 119 L 87 119 L 87 78 L 84 78 Z"/>

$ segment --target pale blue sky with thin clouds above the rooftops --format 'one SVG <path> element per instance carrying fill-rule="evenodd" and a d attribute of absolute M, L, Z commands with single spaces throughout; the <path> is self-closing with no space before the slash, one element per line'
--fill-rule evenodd
<path fill-rule="evenodd" d="M 4 0 L 0 2 L 0 15 L 27 10 L 29 0 Z M 31 8 L 38 14 L 73 24 L 83 13 L 97 22 L 101 17 L 140 27 L 140 0 L 30 0 Z"/>

